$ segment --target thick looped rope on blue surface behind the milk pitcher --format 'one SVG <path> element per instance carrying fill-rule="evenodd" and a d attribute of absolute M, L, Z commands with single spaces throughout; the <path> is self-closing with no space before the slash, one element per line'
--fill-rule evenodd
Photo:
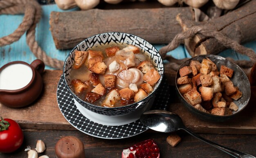
<path fill-rule="evenodd" d="M 56 69 L 62 69 L 64 62 L 53 59 L 38 46 L 35 39 L 36 24 L 39 22 L 42 15 L 42 8 L 35 0 L 0 0 L 0 14 L 20 14 L 24 13 L 22 23 L 10 35 L 0 38 L 0 46 L 9 45 L 27 32 L 26 41 L 29 49 L 34 53 L 36 58 L 43 60 L 45 65 Z"/>

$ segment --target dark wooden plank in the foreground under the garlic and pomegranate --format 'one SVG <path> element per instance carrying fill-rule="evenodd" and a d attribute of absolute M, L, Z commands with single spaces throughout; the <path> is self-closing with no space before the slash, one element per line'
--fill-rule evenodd
<path fill-rule="evenodd" d="M 39 156 L 47 155 L 50 158 L 55 158 L 56 142 L 63 136 L 75 136 L 84 144 L 86 158 L 121 158 L 121 152 L 126 147 L 147 140 L 154 139 L 160 149 L 161 158 L 231 158 L 228 154 L 198 140 L 189 134 L 178 131 L 178 135 L 182 141 L 176 146 L 171 147 L 166 142 L 169 134 L 153 133 L 152 131 L 139 134 L 137 136 L 118 139 L 106 140 L 95 138 L 83 134 L 80 131 L 59 131 L 59 130 L 43 130 L 43 131 L 23 131 L 24 142 L 18 151 L 11 154 L 1 154 L 1 158 L 26 158 L 27 152 L 24 149 L 29 145 L 31 148 L 36 147 L 36 141 L 41 139 L 45 142 L 45 152 Z M 200 136 L 216 142 L 225 147 L 236 149 L 247 154 L 256 155 L 256 135 L 216 135 L 216 134 L 200 134 Z"/>

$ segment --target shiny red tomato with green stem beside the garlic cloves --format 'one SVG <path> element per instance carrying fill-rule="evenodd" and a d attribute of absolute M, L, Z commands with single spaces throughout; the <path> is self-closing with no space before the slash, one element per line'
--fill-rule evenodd
<path fill-rule="evenodd" d="M 4 119 L 4 121 L 9 122 L 10 125 L 6 130 L 1 131 L 0 129 L 0 152 L 11 153 L 22 145 L 24 136 L 17 122 L 9 118 Z M 2 120 L 0 123 L 3 123 Z"/>

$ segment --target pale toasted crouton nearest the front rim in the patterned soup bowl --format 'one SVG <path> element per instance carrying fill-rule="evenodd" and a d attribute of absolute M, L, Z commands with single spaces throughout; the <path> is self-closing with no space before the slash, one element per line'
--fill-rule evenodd
<path fill-rule="evenodd" d="M 105 100 L 102 102 L 102 105 L 104 107 L 114 107 L 115 103 L 120 99 L 121 98 L 117 90 L 113 89 L 107 94 Z"/>

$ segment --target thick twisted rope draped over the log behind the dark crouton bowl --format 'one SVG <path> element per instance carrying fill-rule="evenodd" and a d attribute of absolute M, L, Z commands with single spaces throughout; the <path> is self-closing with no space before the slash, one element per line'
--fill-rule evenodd
<path fill-rule="evenodd" d="M 256 62 L 256 53 L 252 49 L 249 49 L 240 45 L 238 42 L 231 40 L 230 38 L 227 38 L 227 36 L 223 35 L 218 31 L 209 30 L 202 26 L 193 26 L 187 31 L 177 34 L 168 45 L 162 47 L 162 49 L 159 50 L 161 56 L 164 59 L 167 59 L 170 61 L 170 63 L 166 64 L 166 67 L 170 67 L 175 71 L 179 69 L 179 65 L 181 65 L 181 63 L 184 62 L 184 60 L 183 59 L 174 60 L 173 57 L 167 56 L 166 53 L 168 51 L 172 51 L 173 49 L 177 48 L 180 45 L 180 43 L 184 41 L 184 39 L 191 38 L 195 36 L 197 33 L 200 33 L 206 37 L 215 38 L 218 42 L 220 42 L 220 44 L 224 45 L 225 47 L 234 49 L 238 53 L 248 56 L 251 59 L 251 61 L 247 61 L 247 60 L 235 61 L 236 64 L 238 64 L 241 67 L 252 67 L 252 65 Z"/>

